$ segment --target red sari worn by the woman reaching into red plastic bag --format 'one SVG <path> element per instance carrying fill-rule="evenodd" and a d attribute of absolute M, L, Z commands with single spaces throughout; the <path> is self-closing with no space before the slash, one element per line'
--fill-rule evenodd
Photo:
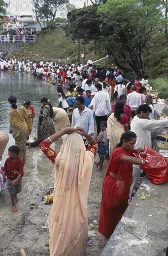
<path fill-rule="evenodd" d="M 132 164 L 121 159 L 123 155 L 134 156 L 133 153 L 137 151 L 125 151 L 119 147 L 112 151 L 102 189 L 98 231 L 103 236 L 112 235 L 127 208 L 132 183 Z M 113 179 L 109 172 L 118 175 L 117 180 Z"/>

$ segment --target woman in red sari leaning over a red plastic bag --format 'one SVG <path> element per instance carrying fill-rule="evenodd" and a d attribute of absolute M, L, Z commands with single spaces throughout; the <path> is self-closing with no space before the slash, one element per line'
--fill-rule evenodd
<path fill-rule="evenodd" d="M 102 189 L 100 220 L 98 231 L 109 240 L 122 215 L 128 206 L 128 198 L 132 183 L 132 164 L 144 165 L 145 160 L 134 157 L 142 148 L 134 149 L 137 135 L 125 132 L 107 166 Z"/>

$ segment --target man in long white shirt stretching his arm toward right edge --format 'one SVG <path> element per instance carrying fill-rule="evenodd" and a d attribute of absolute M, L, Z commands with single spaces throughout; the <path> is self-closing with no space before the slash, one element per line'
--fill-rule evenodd
<path fill-rule="evenodd" d="M 131 131 L 137 135 L 135 149 L 144 148 L 144 146 L 152 147 L 151 132 L 161 132 L 165 126 L 168 126 L 168 120 L 148 119 L 152 110 L 147 104 L 139 106 L 137 115 L 131 121 Z M 132 191 L 141 175 L 139 165 L 133 164 L 132 185 L 130 188 L 129 201 L 131 202 Z"/>

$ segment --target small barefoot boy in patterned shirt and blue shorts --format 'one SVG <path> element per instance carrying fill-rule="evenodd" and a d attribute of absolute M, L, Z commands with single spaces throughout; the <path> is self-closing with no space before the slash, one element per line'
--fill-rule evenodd
<path fill-rule="evenodd" d="M 96 171 L 101 171 L 103 169 L 103 162 L 104 162 L 104 156 L 106 154 L 106 144 L 107 144 L 107 122 L 101 121 L 100 122 L 100 133 L 97 139 L 98 143 L 98 154 L 100 157 L 100 162 L 97 162 L 97 164 L 100 164 L 99 168 L 97 168 Z"/>

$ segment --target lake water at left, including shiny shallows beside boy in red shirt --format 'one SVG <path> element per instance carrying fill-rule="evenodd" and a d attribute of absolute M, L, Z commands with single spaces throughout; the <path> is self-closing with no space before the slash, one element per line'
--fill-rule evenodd
<path fill-rule="evenodd" d="M 23 102 L 28 99 L 31 101 L 31 105 L 35 110 L 31 135 L 36 135 L 39 110 L 42 106 L 40 99 L 46 96 L 50 99 L 52 106 L 57 107 L 58 93 L 56 87 L 56 85 L 45 81 L 34 80 L 31 74 L 8 71 L 0 72 L 0 130 L 9 135 L 9 142 L 2 158 L 2 164 L 5 163 L 8 157 L 7 149 L 15 145 L 12 134 L 9 134 L 9 112 L 11 110 L 11 105 L 7 101 L 9 96 L 14 95 L 17 97 L 18 106 L 23 105 Z M 60 142 L 57 143 L 56 146 L 52 145 L 52 148 L 54 148 L 56 152 L 59 152 Z M 53 170 L 54 164 L 42 154 L 39 147 L 26 149 L 26 163 L 22 182 L 23 189 L 19 194 L 19 198 L 21 198 L 22 201 L 18 202 L 19 212 L 27 212 L 31 203 L 36 204 L 39 202 L 44 191 L 54 184 Z M 9 208 L 11 206 L 7 191 L 2 191 L 0 204 L 2 206 L 0 215 L 4 216 L 4 214 L 6 214 L 6 207 Z M 9 212 L 8 217 L 10 220 L 10 208 L 7 209 L 7 212 Z"/>

